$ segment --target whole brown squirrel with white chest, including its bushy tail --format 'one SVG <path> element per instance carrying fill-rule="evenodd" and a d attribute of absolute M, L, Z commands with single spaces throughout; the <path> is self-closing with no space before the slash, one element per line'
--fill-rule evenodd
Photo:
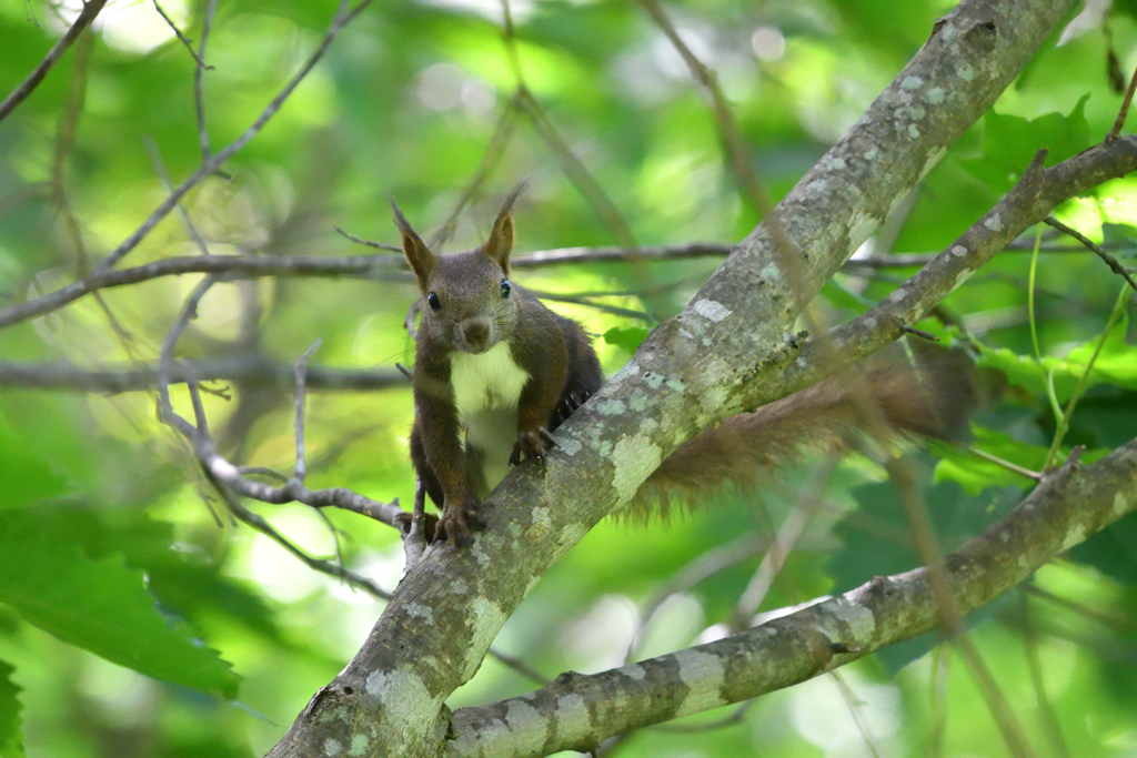
<path fill-rule="evenodd" d="M 442 511 L 428 536 L 455 545 L 482 527 L 479 502 L 508 467 L 543 459 L 556 447 L 551 432 L 604 382 L 581 325 L 509 281 L 522 189 L 506 198 L 485 242 L 448 256 L 431 251 L 391 202 L 428 305 L 415 340 L 410 460 Z M 912 345 L 915 366 L 894 353 L 855 370 L 894 430 L 944 438 L 965 424 L 976 391 L 965 357 L 930 347 Z M 690 502 L 727 482 L 753 485 L 806 443 L 847 444 L 860 418 L 836 380 L 732 416 L 677 448 L 624 513 L 665 511 L 677 495 Z"/>

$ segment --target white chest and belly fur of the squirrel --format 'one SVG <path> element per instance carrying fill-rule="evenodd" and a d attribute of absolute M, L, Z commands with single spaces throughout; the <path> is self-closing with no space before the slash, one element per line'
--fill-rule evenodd
<path fill-rule="evenodd" d="M 517 403 L 526 382 L 529 372 L 514 361 L 505 342 L 476 356 L 450 353 L 454 403 L 466 428 L 466 447 L 481 458 L 487 491 L 509 470 L 509 453 L 517 440 Z"/>

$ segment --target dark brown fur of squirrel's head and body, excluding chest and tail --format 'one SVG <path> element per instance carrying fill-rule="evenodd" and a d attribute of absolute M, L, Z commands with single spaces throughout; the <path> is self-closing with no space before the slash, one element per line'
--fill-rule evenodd
<path fill-rule="evenodd" d="M 440 532 L 453 543 L 467 542 L 481 525 L 479 500 L 489 488 L 480 453 L 467 445 L 458 418 L 451 356 L 482 352 L 504 342 L 514 364 L 529 374 L 517 401 L 511 463 L 543 457 L 553 444 L 553 430 L 604 381 L 580 324 L 554 314 L 516 284 L 509 283 L 504 294 L 514 243 L 512 209 L 521 189 L 506 199 L 485 242 L 449 256 L 432 251 L 391 202 L 407 263 L 428 298 L 415 340 L 410 461 L 426 494 L 442 510 Z"/>

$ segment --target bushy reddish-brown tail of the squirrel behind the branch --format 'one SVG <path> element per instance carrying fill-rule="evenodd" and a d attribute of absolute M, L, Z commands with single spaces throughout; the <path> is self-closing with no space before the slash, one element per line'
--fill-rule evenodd
<path fill-rule="evenodd" d="M 634 520 L 673 506 L 697 507 L 728 486 L 753 490 L 808 452 L 848 448 L 864 430 L 863 405 L 880 409 L 890 432 L 951 439 L 979 405 L 974 366 L 960 350 L 913 341 L 752 414 L 732 416 L 677 448 L 620 511 Z M 910 360 L 908 356 L 915 360 Z"/>

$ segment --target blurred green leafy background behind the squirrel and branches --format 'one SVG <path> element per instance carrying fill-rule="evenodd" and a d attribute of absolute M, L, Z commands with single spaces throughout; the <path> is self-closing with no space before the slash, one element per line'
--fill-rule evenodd
<path fill-rule="evenodd" d="M 210 68 L 201 74 L 214 152 L 254 123 L 317 48 L 337 5 L 216 3 Z M 664 11 L 715 72 L 748 165 L 777 199 L 953 5 L 714 0 L 670 2 Z M 160 7 L 200 41 L 206 0 Z M 34 68 L 80 8 L 78 0 L 0 0 L 0 94 Z M 1135 8 L 1121 0 L 1077 8 L 995 113 L 857 257 L 936 252 L 997 201 L 1037 149 L 1051 148 L 1054 163 L 1099 141 L 1137 65 Z M 196 256 L 202 243 L 211 255 L 397 256 L 337 233 L 396 242 L 389 195 L 424 235 L 453 218 L 445 250 L 460 250 L 483 238 L 522 178 L 521 253 L 730 244 L 755 226 L 758 213 L 724 157 L 722 124 L 642 7 L 514 0 L 509 11 L 514 35 L 506 40 L 497 0 L 367 8 L 223 172 L 186 194 L 181 207 L 193 231 L 169 214 L 119 268 Z M 0 307 L 82 276 L 167 197 L 167 182 L 201 165 L 196 61 L 169 23 L 153 2 L 110 0 L 0 123 Z M 1056 215 L 1127 259 L 1137 250 L 1132 190 L 1132 181 L 1114 181 Z M 1024 250 L 1001 255 L 921 328 L 968 342 L 993 366 L 1031 367 L 976 419 L 973 445 L 1038 470 L 1055 430 L 1047 376 L 1064 402 L 1118 314 L 1102 353 L 1109 370 L 1093 374 L 1063 441 L 1063 449 L 1088 445 L 1092 460 L 1137 430 L 1128 302 L 1118 300 L 1120 280 L 1072 241 L 1047 231 L 1037 258 L 1035 233 L 1021 242 Z M 719 260 L 586 261 L 518 269 L 515 280 L 597 335 L 611 374 Z M 914 270 L 848 268 L 819 298 L 819 313 L 845 320 Z M 147 382 L 108 391 L 90 378 L 94 370 L 114 378 L 152 369 L 200 278 L 106 290 L 101 301 L 88 297 L 0 330 L 5 758 L 263 755 L 382 609 L 236 525 L 191 451 L 157 420 Z M 204 383 L 222 453 L 292 470 L 291 364 L 322 338 L 313 369 L 357 378 L 308 394 L 309 485 L 398 498 L 409 508 L 410 394 L 395 366 L 413 363 L 404 320 L 416 297 L 400 275 L 214 286 L 176 355 L 272 366 L 283 376 Z M 44 374 L 28 367 L 55 367 L 63 378 L 45 388 Z M 367 376 L 396 381 L 375 389 L 358 378 Z M 184 386 L 173 392 L 175 408 L 191 416 Z M 963 448 L 910 455 L 945 548 L 1029 491 L 1028 478 Z M 830 468 L 805 461 L 760 500 L 724 498 L 670 524 L 601 523 L 537 585 L 496 648 L 541 677 L 591 673 L 916 566 L 883 470 L 863 456 Z M 309 555 L 342 561 L 387 591 L 401 575 L 402 548 L 390 527 L 334 509 L 247 506 Z M 970 619 L 1004 703 L 1039 755 L 1137 756 L 1131 522 Z M 116 636 L 116 623 L 130 634 Z M 744 708 L 644 730 L 607 755 L 1004 755 L 971 673 L 937 642 L 928 635 Z M 149 656 L 134 668 L 152 676 L 123 665 L 134 647 Z M 540 685 L 517 668 L 487 659 L 450 707 Z"/>

